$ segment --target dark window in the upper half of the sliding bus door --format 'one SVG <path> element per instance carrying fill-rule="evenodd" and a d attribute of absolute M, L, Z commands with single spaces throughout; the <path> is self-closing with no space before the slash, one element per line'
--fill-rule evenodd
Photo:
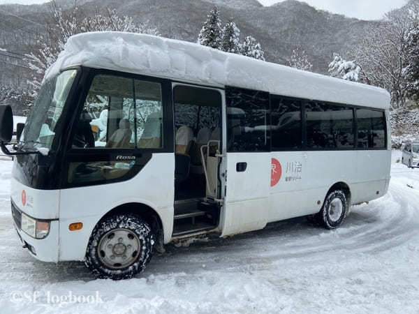
<path fill-rule="evenodd" d="M 226 88 L 228 151 L 269 151 L 269 94 Z"/>

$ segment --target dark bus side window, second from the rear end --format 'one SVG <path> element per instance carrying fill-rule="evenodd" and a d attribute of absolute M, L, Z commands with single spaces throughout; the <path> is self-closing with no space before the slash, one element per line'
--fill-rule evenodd
<path fill-rule="evenodd" d="M 353 109 L 318 102 L 305 104 L 307 148 L 350 149 L 355 147 Z"/>

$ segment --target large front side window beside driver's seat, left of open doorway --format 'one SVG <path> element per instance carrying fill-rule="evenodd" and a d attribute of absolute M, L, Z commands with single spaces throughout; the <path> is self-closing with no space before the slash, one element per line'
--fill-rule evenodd
<path fill-rule="evenodd" d="M 161 84 L 96 75 L 76 128 L 73 148 L 162 147 Z"/>

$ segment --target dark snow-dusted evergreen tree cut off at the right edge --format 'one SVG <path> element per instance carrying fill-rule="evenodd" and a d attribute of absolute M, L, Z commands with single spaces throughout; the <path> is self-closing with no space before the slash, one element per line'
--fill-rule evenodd
<path fill-rule="evenodd" d="M 419 24 L 415 25 L 407 36 L 407 64 L 403 70 L 406 78 L 406 94 L 419 98 Z"/>

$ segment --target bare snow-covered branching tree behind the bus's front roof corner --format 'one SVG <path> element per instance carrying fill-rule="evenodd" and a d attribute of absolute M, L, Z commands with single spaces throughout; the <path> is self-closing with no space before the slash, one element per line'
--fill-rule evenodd
<path fill-rule="evenodd" d="M 132 17 L 120 17 L 117 10 L 108 8 L 105 15 L 96 13 L 92 17 L 81 18 L 77 0 L 71 10 L 64 11 L 57 0 L 50 2 L 52 22 L 47 26 L 47 32 L 38 40 L 34 52 L 27 54 L 29 68 L 34 71 L 34 77 L 29 82 L 33 88 L 32 96 L 38 94 L 45 71 L 57 60 L 59 52 L 70 36 L 86 31 L 128 31 L 133 33 L 149 33 L 159 35 L 159 32 L 147 23 L 135 23 Z"/>

